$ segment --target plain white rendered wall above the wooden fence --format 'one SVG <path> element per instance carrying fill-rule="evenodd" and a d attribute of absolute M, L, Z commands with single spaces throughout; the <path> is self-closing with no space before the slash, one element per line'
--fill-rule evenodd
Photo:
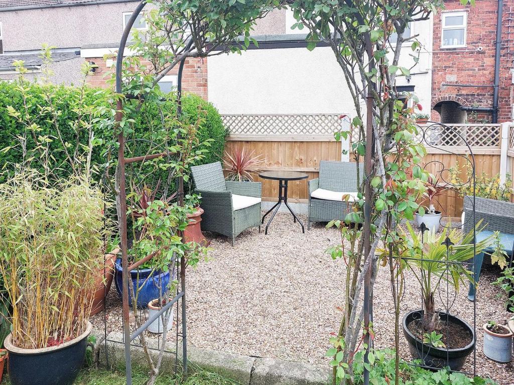
<path fill-rule="evenodd" d="M 286 32 L 292 18 L 286 14 Z M 432 21 L 412 23 L 419 34 L 419 64 L 408 82 L 397 77 L 397 85 L 414 85 L 424 111 L 430 110 L 432 79 Z M 294 30 L 294 33 L 305 32 Z M 402 47 L 400 65 L 410 68 L 411 43 Z M 428 49 L 426 48 L 428 47 Z M 356 74 L 358 76 L 358 74 Z M 341 68 L 329 47 L 252 49 L 239 54 L 209 57 L 209 101 L 221 113 L 350 113 L 355 107 Z"/>

